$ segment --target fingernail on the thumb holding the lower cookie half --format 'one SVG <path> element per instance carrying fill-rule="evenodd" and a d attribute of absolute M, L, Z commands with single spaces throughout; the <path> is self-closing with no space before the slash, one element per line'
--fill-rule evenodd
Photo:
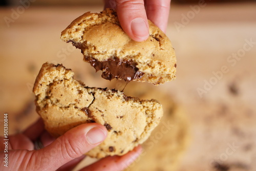
<path fill-rule="evenodd" d="M 106 134 L 99 127 L 94 127 L 87 133 L 86 138 L 90 144 L 97 144 L 106 138 Z"/>

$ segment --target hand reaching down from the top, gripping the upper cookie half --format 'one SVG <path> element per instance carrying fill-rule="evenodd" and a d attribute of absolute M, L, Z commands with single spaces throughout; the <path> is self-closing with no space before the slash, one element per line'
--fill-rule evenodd
<path fill-rule="evenodd" d="M 104 0 L 104 8 L 116 9 L 124 32 L 135 41 L 148 38 L 150 19 L 163 32 L 166 31 L 170 0 Z"/>

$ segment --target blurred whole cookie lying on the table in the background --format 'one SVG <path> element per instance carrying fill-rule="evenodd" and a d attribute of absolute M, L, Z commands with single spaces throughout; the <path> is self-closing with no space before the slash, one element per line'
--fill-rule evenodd
<path fill-rule="evenodd" d="M 124 89 L 129 96 L 158 99 L 164 115 L 159 125 L 143 144 L 141 156 L 125 171 L 174 171 L 189 142 L 189 122 L 182 106 L 164 90 L 150 84 L 129 83 Z M 148 162 L 151 161 L 151 162 Z"/>

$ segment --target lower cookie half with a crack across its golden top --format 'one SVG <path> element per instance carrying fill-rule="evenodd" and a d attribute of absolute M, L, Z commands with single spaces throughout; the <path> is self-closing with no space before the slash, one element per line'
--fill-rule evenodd
<path fill-rule="evenodd" d="M 88 156 L 124 155 L 143 143 L 163 115 L 156 100 L 140 100 L 117 90 L 86 87 L 62 65 L 44 63 L 34 83 L 36 111 L 46 130 L 58 137 L 82 123 L 97 122 L 107 138 Z"/>

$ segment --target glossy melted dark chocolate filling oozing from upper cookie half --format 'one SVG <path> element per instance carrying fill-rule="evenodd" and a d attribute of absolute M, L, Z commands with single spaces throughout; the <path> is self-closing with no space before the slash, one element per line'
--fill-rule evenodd
<path fill-rule="evenodd" d="M 86 46 L 83 44 L 71 41 L 73 46 L 81 49 L 83 52 L 86 50 Z M 126 82 L 130 82 L 134 79 L 140 79 L 143 76 L 143 72 L 140 72 L 136 67 L 136 63 L 133 60 L 122 60 L 117 57 L 109 58 L 104 61 L 98 61 L 97 59 L 84 56 L 84 60 L 91 63 L 97 71 L 102 70 L 101 77 L 104 79 L 112 80 L 114 78 L 120 78 Z"/>

